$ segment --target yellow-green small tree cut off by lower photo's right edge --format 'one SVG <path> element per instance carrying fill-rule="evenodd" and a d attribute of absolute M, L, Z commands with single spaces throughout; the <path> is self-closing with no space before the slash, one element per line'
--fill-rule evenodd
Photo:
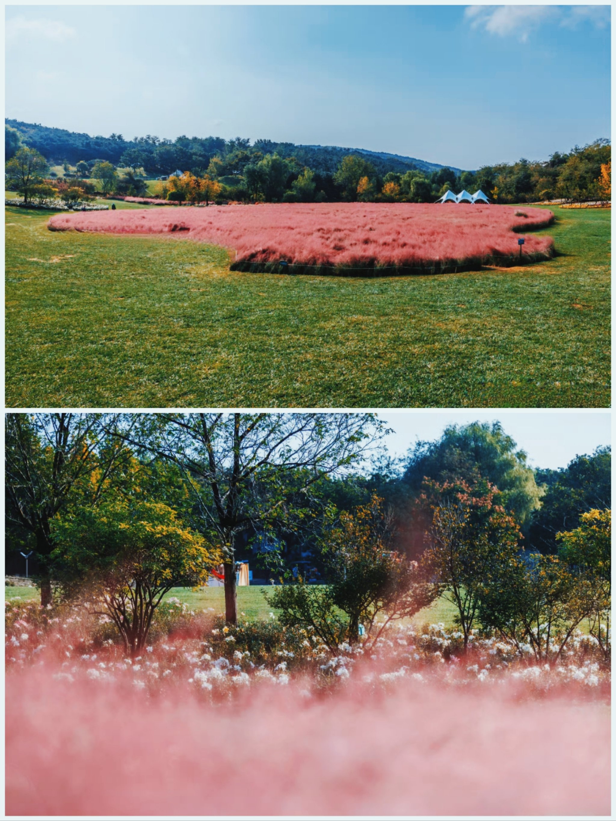
<path fill-rule="evenodd" d="M 582 513 L 580 526 L 556 534 L 559 557 L 574 571 L 590 580 L 594 590 L 591 608 L 591 635 L 599 642 L 605 658 L 609 658 L 609 634 L 612 599 L 612 511 L 591 510 Z"/>

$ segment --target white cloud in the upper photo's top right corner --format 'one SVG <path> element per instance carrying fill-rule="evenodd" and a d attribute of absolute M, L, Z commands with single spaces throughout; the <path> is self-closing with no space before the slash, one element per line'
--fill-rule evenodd
<path fill-rule="evenodd" d="M 576 28 L 591 21 L 609 25 L 609 6 L 467 6 L 464 16 L 473 29 L 483 28 L 500 37 L 515 35 L 525 43 L 532 30 L 547 21 Z"/>

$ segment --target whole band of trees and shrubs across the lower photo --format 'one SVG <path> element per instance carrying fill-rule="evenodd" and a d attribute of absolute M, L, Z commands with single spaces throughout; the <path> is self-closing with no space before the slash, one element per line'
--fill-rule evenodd
<path fill-rule="evenodd" d="M 234 623 L 237 558 L 264 535 L 276 548 L 263 554 L 270 573 L 293 582 L 271 603 L 332 649 L 362 630 L 378 640 L 379 614 L 412 615 L 438 595 L 455 604 L 465 647 L 479 621 L 544 658 L 585 617 L 607 646 L 609 495 L 586 493 L 584 511 L 577 493 L 577 518 L 554 534 L 554 552 L 523 551 L 541 499 L 572 483 L 559 472 L 547 492 L 538 486 L 499 426 L 449 429 L 398 471 L 409 487 L 421 466 L 439 466 L 416 496 L 417 550 L 402 497 L 374 489 L 396 477 L 356 473 L 383 433 L 361 414 L 10 414 L 7 549 L 35 551 L 44 605 L 53 580 L 103 608 L 132 651 L 168 589 L 198 585 L 220 563 Z M 298 553 L 324 585 L 306 583 Z"/>

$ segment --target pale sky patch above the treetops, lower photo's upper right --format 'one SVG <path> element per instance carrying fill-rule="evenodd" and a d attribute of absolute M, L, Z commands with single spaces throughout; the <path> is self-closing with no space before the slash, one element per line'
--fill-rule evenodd
<path fill-rule="evenodd" d="M 528 454 L 531 467 L 566 467 L 578 455 L 609 445 L 609 411 L 570 410 L 388 410 L 379 413 L 392 433 L 385 440 L 388 452 L 403 456 L 417 440 L 439 438 L 448 424 L 499 421 Z"/>

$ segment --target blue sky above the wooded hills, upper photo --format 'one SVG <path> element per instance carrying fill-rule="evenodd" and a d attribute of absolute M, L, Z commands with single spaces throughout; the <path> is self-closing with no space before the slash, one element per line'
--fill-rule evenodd
<path fill-rule="evenodd" d="M 6 115 L 26 122 L 462 168 L 609 137 L 609 6 L 6 9 Z"/>

